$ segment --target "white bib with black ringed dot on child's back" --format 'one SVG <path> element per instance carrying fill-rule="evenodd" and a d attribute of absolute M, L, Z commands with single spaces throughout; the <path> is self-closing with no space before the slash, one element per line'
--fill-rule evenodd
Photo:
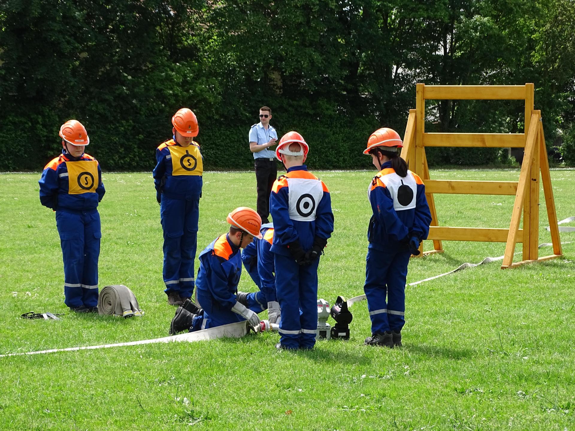
<path fill-rule="evenodd" d="M 318 179 L 287 178 L 287 206 L 289 218 L 299 221 L 316 220 L 317 205 L 323 197 L 323 187 Z"/>

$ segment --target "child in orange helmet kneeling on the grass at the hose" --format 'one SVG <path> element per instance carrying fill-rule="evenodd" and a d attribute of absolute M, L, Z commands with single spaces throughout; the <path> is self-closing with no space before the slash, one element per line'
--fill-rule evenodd
<path fill-rule="evenodd" d="M 229 232 L 218 236 L 200 253 L 200 269 L 196 280 L 198 303 L 204 309 L 197 315 L 178 307 L 170 324 L 170 333 L 214 328 L 247 320 L 252 327 L 259 324 L 263 311 L 258 297 L 261 292 L 245 294 L 245 303 L 237 298 L 237 283 L 241 275 L 240 248 L 247 247 L 259 232 L 262 219 L 255 210 L 239 207 L 228 214 Z M 186 301 L 187 302 L 187 301 Z M 193 307 L 195 308 L 195 307 Z M 198 313 L 200 314 L 200 313 Z"/>

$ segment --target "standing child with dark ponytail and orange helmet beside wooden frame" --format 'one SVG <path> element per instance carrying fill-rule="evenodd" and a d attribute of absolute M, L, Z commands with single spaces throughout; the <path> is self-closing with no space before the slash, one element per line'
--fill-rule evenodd
<path fill-rule="evenodd" d="M 409 257 L 419 255 L 419 244 L 427 238 L 431 223 L 425 186 L 408 171 L 400 157 L 402 147 L 394 130 L 382 128 L 371 134 L 363 151 L 379 170 L 367 189 L 373 216 L 367 230 L 363 287 L 371 318 L 371 337 L 365 344 L 391 348 L 401 346 Z"/>

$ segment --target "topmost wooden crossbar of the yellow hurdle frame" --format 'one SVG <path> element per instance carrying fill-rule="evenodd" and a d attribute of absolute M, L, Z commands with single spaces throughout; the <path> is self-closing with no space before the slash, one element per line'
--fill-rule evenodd
<path fill-rule="evenodd" d="M 523 100 L 524 85 L 426 85 L 424 99 Z"/>

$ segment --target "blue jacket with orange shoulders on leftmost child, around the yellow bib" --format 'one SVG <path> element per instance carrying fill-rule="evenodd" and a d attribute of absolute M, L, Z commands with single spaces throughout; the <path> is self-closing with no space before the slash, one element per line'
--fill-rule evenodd
<path fill-rule="evenodd" d="M 93 184 L 90 190 L 80 190 L 81 193 L 70 194 L 70 178 L 68 177 L 67 162 L 73 161 L 95 161 L 98 167 L 97 184 Z M 95 182 L 95 178 L 92 179 Z M 102 172 L 100 164 L 94 157 L 83 153 L 78 160 L 72 160 L 64 150 L 62 154 L 55 157 L 44 167 L 42 176 L 38 182 L 40 184 L 40 202 L 53 210 L 65 210 L 71 212 L 91 211 L 98 207 L 98 202 L 102 200 L 106 190 L 102 183 Z"/>

